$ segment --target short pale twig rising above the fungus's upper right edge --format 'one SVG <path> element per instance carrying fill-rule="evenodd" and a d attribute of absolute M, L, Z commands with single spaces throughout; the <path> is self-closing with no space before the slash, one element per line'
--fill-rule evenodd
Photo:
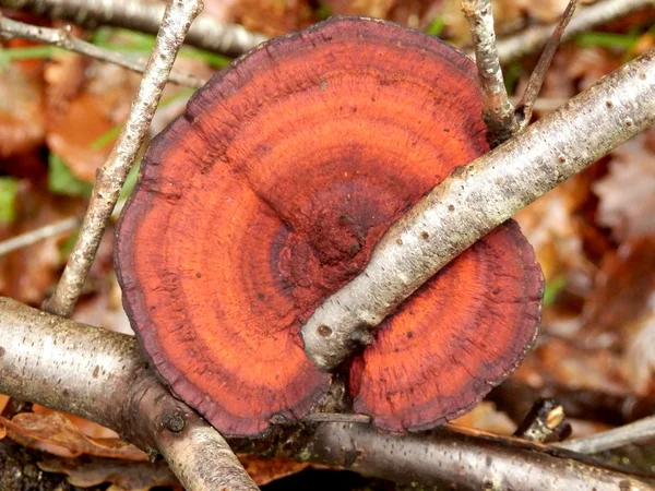
<path fill-rule="evenodd" d="M 490 0 L 462 0 L 462 12 L 471 28 L 483 95 L 483 119 L 487 123 L 487 140 L 491 147 L 509 140 L 519 123 L 510 103 L 493 32 L 493 12 Z"/>

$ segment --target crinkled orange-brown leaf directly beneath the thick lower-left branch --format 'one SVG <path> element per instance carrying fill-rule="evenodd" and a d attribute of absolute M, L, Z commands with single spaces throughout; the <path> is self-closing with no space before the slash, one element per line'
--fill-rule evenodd
<path fill-rule="evenodd" d="M 72 455 L 147 460 L 147 456 L 133 445 L 119 439 L 91 439 L 60 412 L 21 412 L 10 421 L 0 417 L 0 426 L 9 438 L 34 448 L 52 451 L 50 445 L 64 448 Z"/>

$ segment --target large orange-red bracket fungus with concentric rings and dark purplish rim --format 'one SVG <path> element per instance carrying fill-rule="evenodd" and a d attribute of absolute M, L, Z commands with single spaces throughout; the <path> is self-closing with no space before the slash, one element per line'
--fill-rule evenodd
<path fill-rule="evenodd" d="M 369 19 L 272 39 L 217 73 L 151 143 L 119 224 L 123 302 L 163 380 L 227 435 L 306 416 L 331 375 L 302 323 L 488 151 L 480 115 L 471 60 Z M 346 363 L 355 410 L 391 431 L 466 410 L 529 348 L 541 287 L 517 226 L 499 227 Z"/>

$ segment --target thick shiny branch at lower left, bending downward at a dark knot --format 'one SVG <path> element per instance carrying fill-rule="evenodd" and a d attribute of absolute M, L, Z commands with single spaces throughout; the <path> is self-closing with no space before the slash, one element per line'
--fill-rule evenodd
<path fill-rule="evenodd" d="M 96 421 L 150 454 L 159 450 L 189 491 L 258 489 L 218 432 L 145 369 L 132 337 L 14 300 L 0 299 L 0 392 Z"/>

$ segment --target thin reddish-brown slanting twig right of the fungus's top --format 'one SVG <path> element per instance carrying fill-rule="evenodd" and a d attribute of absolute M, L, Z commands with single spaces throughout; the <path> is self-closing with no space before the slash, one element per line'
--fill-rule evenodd
<path fill-rule="evenodd" d="M 575 12 L 575 7 L 577 7 L 577 0 L 571 0 L 567 5 L 567 10 L 562 14 L 560 23 L 552 32 L 552 36 L 548 40 L 546 48 L 544 48 L 544 52 L 539 58 L 539 62 L 529 75 L 529 81 L 527 82 L 527 87 L 525 88 L 523 98 L 521 99 L 521 103 L 519 103 L 519 106 L 516 106 L 516 116 L 520 121 L 519 125 L 521 127 L 521 131 L 524 130 L 532 120 L 533 107 L 537 100 L 537 97 L 539 96 L 539 92 L 541 92 L 541 85 L 544 85 L 546 73 L 548 72 L 550 63 L 555 58 L 557 48 L 559 48 L 564 29 L 569 25 L 569 22 Z"/>

